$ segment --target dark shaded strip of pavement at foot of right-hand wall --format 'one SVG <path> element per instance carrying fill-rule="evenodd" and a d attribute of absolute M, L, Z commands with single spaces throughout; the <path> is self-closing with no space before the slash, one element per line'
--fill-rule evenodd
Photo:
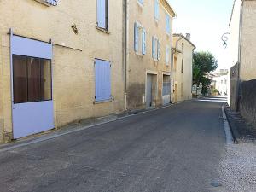
<path fill-rule="evenodd" d="M 256 142 L 256 130 L 247 124 L 245 119 L 241 117 L 241 113 L 232 111 L 227 105 L 224 106 L 228 122 L 235 143 Z"/>

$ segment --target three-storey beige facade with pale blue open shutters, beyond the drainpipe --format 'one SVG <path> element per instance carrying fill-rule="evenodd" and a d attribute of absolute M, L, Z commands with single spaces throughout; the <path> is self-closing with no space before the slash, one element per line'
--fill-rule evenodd
<path fill-rule="evenodd" d="M 127 109 L 170 103 L 175 13 L 166 0 L 129 1 L 127 12 Z"/>

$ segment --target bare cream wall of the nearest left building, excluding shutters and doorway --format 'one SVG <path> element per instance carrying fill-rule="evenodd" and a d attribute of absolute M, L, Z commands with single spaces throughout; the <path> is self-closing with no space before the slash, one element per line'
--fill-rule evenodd
<path fill-rule="evenodd" d="M 34 0 L 0 2 L 0 143 L 12 138 L 10 28 L 15 35 L 53 43 L 56 128 L 124 111 L 122 1 L 108 1 L 108 10 L 109 30 L 102 32 L 96 28 L 96 1 L 60 1 L 49 7 Z M 93 103 L 95 58 L 111 61 L 112 102 Z"/>

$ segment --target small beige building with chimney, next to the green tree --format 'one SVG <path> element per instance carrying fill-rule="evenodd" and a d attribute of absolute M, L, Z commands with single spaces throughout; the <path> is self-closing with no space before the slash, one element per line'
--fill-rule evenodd
<path fill-rule="evenodd" d="M 173 102 L 192 99 L 193 52 L 195 45 L 181 34 L 173 35 Z M 182 64 L 183 63 L 183 64 Z M 182 69 L 183 65 L 183 69 Z"/>

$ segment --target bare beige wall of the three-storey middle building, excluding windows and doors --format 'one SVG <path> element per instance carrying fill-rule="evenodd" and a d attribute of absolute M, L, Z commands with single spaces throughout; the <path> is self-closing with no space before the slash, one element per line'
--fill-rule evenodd
<path fill-rule="evenodd" d="M 166 0 L 160 0 L 159 20 L 154 19 L 154 0 L 128 3 L 127 102 L 128 109 L 146 108 L 147 73 L 153 75 L 153 106 L 162 104 L 163 75 L 171 79 L 172 18 L 175 16 Z M 166 13 L 171 16 L 171 33 L 166 33 Z M 146 30 L 146 54 L 134 50 L 134 24 Z M 160 39 L 160 61 L 152 57 L 152 37 Z M 170 61 L 166 65 L 166 45 L 170 46 Z"/>

